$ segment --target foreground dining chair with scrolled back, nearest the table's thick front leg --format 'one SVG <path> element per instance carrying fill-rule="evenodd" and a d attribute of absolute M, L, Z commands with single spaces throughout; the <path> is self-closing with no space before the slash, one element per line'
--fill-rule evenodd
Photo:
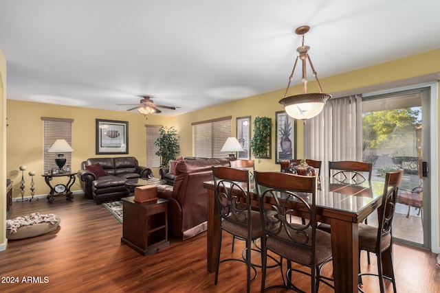
<path fill-rule="evenodd" d="M 316 176 L 300 176 L 281 172 L 255 172 L 256 191 L 259 196 L 261 226 L 263 227 L 261 292 L 272 288 L 299 290 L 292 283 L 292 271 L 311 276 L 311 292 L 318 292 L 319 283 L 333 288 L 327 277 L 320 275 L 323 264 L 331 259 L 331 238 L 325 231 L 316 229 Z M 286 206 L 294 202 L 294 207 Z M 288 215 L 307 215 L 305 224 L 290 221 Z M 265 288 L 267 252 L 287 260 L 284 272 L 281 264 L 282 285 Z M 310 268 L 310 272 L 292 268 L 292 262 Z"/>

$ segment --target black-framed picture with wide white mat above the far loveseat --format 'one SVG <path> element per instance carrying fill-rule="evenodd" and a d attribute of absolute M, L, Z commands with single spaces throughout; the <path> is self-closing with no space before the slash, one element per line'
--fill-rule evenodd
<path fill-rule="evenodd" d="M 129 122 L 96 119 L 96 154 L 128 154 Z"/>

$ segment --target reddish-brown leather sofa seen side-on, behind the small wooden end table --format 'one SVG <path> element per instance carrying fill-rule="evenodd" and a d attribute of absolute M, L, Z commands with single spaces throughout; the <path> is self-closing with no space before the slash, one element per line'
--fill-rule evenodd
<path fill-rule="evenodd" d="M 187 239 L 206 230 L 208 201 L 203 182 L 212 180 L 212 166 L 229 165 L 229 158 L 184 160 L 175 167 L 173 186 L 157 185 L 157 196 L 169 200 L 170 236 Z"/>

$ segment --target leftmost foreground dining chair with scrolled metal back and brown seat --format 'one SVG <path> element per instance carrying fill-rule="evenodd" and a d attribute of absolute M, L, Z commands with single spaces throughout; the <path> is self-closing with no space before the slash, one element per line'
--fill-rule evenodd
<path fill-rule="evenodd" d="M 234 169 L 232 167 L 212 167 L 214 178 L 214 193 L 219 207 L 220 229 L 219 248 L 217 251 L 217 268 L 215 270 L 215 285 L 219 278 L 220 263 L 224 261 L 241 261 L 247 267 L 247 292 L 250 292 L 250 284 L 256 279 L 256 269 L 251 262 L 252 241 L 263 235 L 259 211 L 252 211 L 250 204 L 249 171 Z M 244 198 L 245 200 L 241 200 Z M 221 235 L 223 231 L 233 236 L 245 239 L 245 259 L 223 259 L 220 261 Z M 251 269 L 254 277 L 251 278 Z"/>

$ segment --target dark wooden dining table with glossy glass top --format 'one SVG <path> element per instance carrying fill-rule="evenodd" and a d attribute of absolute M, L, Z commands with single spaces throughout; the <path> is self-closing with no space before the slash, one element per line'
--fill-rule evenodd
<path fill-rule="evenodd" d="M 214 181 L 203 183 L 203 187 L 207 189 L 208 194 L 207 270 L 215 272 L 220 218 L 214 196 Z M 380 207 L 383 191 L 382 181 L 340 183 L 321 180 L 318 185 L 316 217 L 318 222 L 331 224 L 335 292 L 358 292 L 358 224 Z M 253 186 L 250 194 L 252 204 L 258 206 Z M 389 275 L 390 265 L 384 263 L 385 275 Z"/>

